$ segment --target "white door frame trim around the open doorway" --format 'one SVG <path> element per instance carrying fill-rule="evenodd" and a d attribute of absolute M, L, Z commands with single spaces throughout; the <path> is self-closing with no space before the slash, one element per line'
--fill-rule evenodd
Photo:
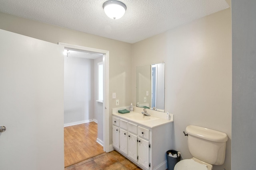
<path fill-rule="evenodd" d="M 78 45 L 71 45 L 66 43 L 58 43 L 59 45 L 64 46 L 67 49 L 88 51 L 94 53 L 103 54 L 103 150 L 105 152 L 110 152 L 109 145 L 109 51 L 102 49 L 94 49 L 90 47 L 83 47 Z"/>

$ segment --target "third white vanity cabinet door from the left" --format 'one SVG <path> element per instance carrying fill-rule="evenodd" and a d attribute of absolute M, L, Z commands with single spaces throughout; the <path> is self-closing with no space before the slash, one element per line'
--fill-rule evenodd
<path fill-rule="evenodd" d="M 133 135 L 132 133 L 128 133 L 128 156 L 135 160 L 137 160 L 138 156 L 138 142 L 137 142 L 137 135 Z"/>

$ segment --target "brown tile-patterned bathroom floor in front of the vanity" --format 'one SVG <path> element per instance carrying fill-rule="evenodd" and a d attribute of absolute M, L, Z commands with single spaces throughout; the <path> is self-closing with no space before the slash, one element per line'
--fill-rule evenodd
<path fill-rule="evenodd" d="M 64 170 L 141 170 L 116 150 L 66 167 Z"/>

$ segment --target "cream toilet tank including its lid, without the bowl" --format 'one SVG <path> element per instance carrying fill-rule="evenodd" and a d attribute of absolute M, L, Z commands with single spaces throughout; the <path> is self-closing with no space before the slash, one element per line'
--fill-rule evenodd
<path fill-rule="evenodd" d="M 214 165 L 222 165 L 226 154 L 226 133 L 207 129 L 204 127 L 189 125 L 188 149 L 193 157 Z"/>

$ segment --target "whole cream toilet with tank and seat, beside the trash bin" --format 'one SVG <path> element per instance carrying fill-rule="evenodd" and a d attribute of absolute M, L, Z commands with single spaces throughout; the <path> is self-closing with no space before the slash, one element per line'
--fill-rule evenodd
<path fill-rule="evenodd" d="M 222 165 L 226 154 L 226 133 L 189 125 L 188 149 L 193 156 L 174 166 L 174 170 L 212 170 L 212 165 Z"/>

